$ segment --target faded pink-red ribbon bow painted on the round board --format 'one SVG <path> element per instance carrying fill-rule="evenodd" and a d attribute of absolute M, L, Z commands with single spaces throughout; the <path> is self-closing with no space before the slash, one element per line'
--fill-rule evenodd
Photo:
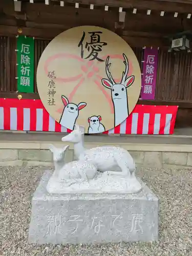
<path fill-rule="evenodd" d="M 105 60 L 108 56 L 110 56 L 110 59 L 123 59 L 123 56 L 122 55 L 119 55 L 119 54 L 112 54 L 112 55 L 105 55 L 102 57 L 103 60 Z M 58 58 L 72 58 L 72 59 L 76 59 L 78 60 L 80 63 L 81 63 L 81 70 L 83 73 L 80 73 L 76 76 L 72 76 L 72 77 L 56 77 L 54 80 L 58 81 L 58 82 L 73 82 L 73 81 L 78 81 L 77 85 L 74 87 L 74 89 L 72 90 L 72 92 L 70 93 L 68 99 L 69 99 L 69 102 L 72 101 L 73 99 L 73 96 L 75 95 L 75 93 L 77 92 L 78 88 L 81 86 L 81 84 L 84 82 L 84 80 L 86 79 L 86 77 L 84 77 L 84 75 L 86 75 L 88 78 L 91 78 L 92 76 L 96 76 L 96 79 L 94 79 L 94 82 L 95 84 L 98 86 L 98 88 L 101 90 L 101 92 L 104 94 L 106 100 L 109 102 L 110 104 L 110 109 L 111 109 L 111 113 L 114 113 L 114 108 L 113 108 L 113 102 L 112 102 L 112 99 L 111 99 L 111 96 L 106 93 L 106 91 L 104 90 L 104 87 L 102 86 L 101 84 L 101 79 L 102 78 L 105 78 L 105 77 L 101 77 L 98 72 L 99 72 L 99 68 L 97 67 L 97 65 L 99 65 L 99 63 L 102 63 L 98 60 L 95 59 L 95 61 L 89 61 L 89 60 L 86 60 L 86 59 L 82 59 L 81 57 L 79 56 L 76 56 L 76 55 L 73 55 L 73 54 L 68 54 L 68 53 L 58 53 L 58 54 L 55 54 L 51 57 L 49 57 L 47 60 L 46 60 L 46 63 L 45 63 L 45 66 L 44 66 L 44 70 L 45 70 L 45 73 L 48 74 L 49 71 L 48 71 L 48 67 L 50 65 L 50 63 L 52 61 L 54 61 L 55 59 L 58 59 Z M 97 63 L 97 65 L 95 65 L 95 63 Z M 89 71 L 89 69 L 92 68 L 91 71 Z M 133 70 L 133 67 L 132 67 L 132 63 L 129 63 L 129 74 L 132 74 L 132 70 Z M 98 78 L 98 79 L 97 79 Z M 115 82 L 120 82 L 121 81 L 121 78 L 118 78 L 118 79 L 114 79 Z M 61 113 L 63 110 L 63 108 L 57 110 L 59 113 Z"/>

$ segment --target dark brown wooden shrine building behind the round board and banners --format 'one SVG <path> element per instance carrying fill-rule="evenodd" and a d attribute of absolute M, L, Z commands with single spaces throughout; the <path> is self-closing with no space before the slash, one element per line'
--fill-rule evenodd
<path fill-rule="evenodd" d="M 78 2 L 78 3 L 77 3 Z M 143 48 L 159 48 L 155 100 L 179 105 L 176 127 L 192 127 L 192 53 L 168 52 L 169 36 L 192 28 L 189 0 L 2 0 L 0 2 L 0 98 L 17 98 L 16 35 L 35 38 L 35 71 L 49 41 L 69 28 L 99 26 L 133 48 L 142 69 Z M 125 14 L 125 16 L 122 15 Z M 124 21 L 124 22 L 123 22 Z M 36 77 L 36 74 L 35 74 Z M 23 98 L 39 98 L 35 93 Z"/>

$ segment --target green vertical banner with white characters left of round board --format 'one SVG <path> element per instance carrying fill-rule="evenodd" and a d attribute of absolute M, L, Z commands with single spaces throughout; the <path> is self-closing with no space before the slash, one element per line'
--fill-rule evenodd
<path fill-rule="evenodd" d="M 33 37 L 17 37 L 17 90 L 21 93 L 34 92 Z"/>

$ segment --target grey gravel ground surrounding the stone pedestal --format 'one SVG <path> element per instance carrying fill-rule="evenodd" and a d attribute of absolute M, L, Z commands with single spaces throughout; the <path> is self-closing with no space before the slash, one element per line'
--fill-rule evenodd
<path fill-rule="evenodd" d="M 138 175 L 160 199 L 159 241 L 98 245 L 27 243 L 31 196 L 45 167 L 0 167 L 0 256 L 192 255 L 192 175 L 187 169 L 140 169 Z"/>

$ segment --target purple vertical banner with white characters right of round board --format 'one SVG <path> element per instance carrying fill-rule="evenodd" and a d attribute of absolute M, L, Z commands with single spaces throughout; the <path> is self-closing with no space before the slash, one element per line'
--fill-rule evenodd
<path fill-rule="evenodd" d="M 141 99 L 155 99 L 157 63 L 158 49 L 145 48 L 143 76 L 141 81 Z"/>

